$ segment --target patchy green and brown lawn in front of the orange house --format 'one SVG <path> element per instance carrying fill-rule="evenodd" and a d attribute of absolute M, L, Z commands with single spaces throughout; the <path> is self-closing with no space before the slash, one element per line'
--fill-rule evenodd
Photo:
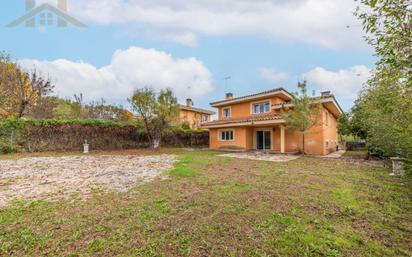
<path fill-rule="evenodd" d="M 0 255 L 412 255 L 412 183 L 383 167 L 169 151 L 167 180 L 0 209 Z"/>

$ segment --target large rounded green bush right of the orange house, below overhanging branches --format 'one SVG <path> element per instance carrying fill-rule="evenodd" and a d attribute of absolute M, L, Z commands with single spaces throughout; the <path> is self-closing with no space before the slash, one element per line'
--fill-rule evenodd
<path fill-rule="evenodd" d="M 375 77 L 374 79 L 378 79 Z M 371 80 L 369 83 L 372 83 Z M 397 79 L 364 87 L 352 109 L 352 127 L 384 156 L 412 159 L 412 88 Z"/>

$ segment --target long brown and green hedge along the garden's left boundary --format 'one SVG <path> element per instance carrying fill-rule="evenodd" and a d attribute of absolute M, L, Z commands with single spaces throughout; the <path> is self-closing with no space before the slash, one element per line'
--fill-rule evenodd
<path fill-rule="evenodd" d="M 0 123 L 0 152 L 80 151 L 149 147 L 140 124 L 105 120 L 8 119 Z M 208 132 L 169 129 L 162 146 L 206 147 Z"/>

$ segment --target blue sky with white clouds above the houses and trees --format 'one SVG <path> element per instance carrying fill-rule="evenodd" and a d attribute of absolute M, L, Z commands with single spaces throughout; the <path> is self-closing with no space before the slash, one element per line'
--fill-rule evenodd
<path fill-rule="evenodd" d="M 125 104 L 151 85 L 208 108 L 227 91 L 295 91 L 307 79 L 348 110 L 375 62 L 350 0 L 68 0 L 86 28 L 7 28 L 24 4 L 2 1 L 0 50 L 49 75 L 62 97 Z"/>

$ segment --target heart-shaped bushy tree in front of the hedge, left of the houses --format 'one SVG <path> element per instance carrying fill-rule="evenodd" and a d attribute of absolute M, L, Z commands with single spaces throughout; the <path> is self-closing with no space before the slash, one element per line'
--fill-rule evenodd
<path fill-rule="evenodd" d="M 170 89 L 156 94 L 153 88 L 146 87 L 136 90 L 128 101 L 143 121 L 150 145 L 159 148 L 165 130 L 178 119 L 177 98 Z"/>

